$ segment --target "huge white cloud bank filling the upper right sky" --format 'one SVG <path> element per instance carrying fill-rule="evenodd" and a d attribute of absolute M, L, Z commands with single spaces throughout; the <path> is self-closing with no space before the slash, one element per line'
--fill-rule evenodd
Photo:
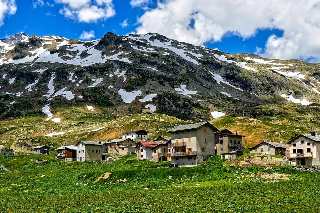
<path fill-rule="evenodd" d="M 195 45 L 218 42 L 226 34 L 247 39 L 259 30 L 280 29 L 281 37 L 270 35 L 264 47 L 257 47 L 263 57 L 320 61 L 320 1 L 158 1 L 138 23 L 136 33 L 159 33 Z"/>

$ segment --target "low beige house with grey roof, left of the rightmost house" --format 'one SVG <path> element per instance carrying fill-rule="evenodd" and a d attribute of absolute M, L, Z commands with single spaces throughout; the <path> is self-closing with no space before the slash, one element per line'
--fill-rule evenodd
<path fill-rule="evenodd" d="M 270 155 L 285 155 L 286 145 L 282 142 L 276 143 L 270 141 L 262 141 L 254 147 L 250 147 L 249 149 L 250 153 L 270 153 Z"/>

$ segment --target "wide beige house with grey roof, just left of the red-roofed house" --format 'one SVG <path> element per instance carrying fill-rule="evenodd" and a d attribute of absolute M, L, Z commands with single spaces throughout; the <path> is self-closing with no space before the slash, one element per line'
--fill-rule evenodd
<path fill-rule="evenodd" d="M 114 139 L 104 145 L 108 148 L 107 154 L 132 155 L 137 151 L 137 144 L 131 138 Z"/>

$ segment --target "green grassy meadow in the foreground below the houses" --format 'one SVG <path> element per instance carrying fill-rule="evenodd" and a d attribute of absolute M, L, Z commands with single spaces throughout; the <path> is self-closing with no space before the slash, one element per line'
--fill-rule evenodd
<path fill-rule="evenodd" d="M 0 163 L 13 170 L 0 170 L 2 212 L 319 210 L 320 175 L 292 167 L 228 167 L 219 156 L 213 156 L 198 167 L 166 168 L 170 162 L 141 161 L 134 155 L 108 164 L 90 162 L 88 171 L 88 162 L 65 163 L 51 158 L 36 164 L 36 158 L 0 157 Z M 13 166 L 13 161 L 18 163 Z M 94 183 L 106 172 L 110 173 L 107 179 Z M 289 180 L 259 176 L 273 172 L 287 174 Z"/>

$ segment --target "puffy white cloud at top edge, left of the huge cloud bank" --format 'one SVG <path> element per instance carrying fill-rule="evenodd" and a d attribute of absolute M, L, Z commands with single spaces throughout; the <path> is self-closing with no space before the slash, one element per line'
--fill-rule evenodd
<path fill-rule="evenodd" d="M 55 0 L 55 2 L 64 5 L 59 11 L 60 14 L 79 22 L 92 23 L 116 15 L 112 0 Z"/>

